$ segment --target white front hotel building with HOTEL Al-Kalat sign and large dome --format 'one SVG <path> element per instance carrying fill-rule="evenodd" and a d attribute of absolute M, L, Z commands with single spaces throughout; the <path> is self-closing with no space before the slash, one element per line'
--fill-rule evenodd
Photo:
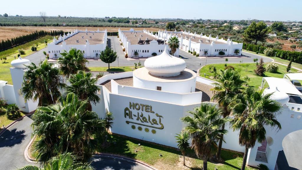
<path fill-rule="evenodd" d="M 24 101 L 19 93 L 26 71 L 24 65 L 29 63 L 29 60 L 22 58 L 11 62 L 13 86 L 0 80 L 0 97 L 8 100 L 8 104 L 16 103 L 24 112 L 31 112 L 37 107 L 37 102 Z M 177 147 L 175 134 L 185 127 L 180 118 L 188 115 L 188 110 L 209 102 L 213 96 L 210 89 L 214 81 L 186 69 L 185 61 L 171 56 L 166 49 L 160 55 L 146 59 L 144 65 L 134 71 L 99 78 L 96 85 L 100 90 L 96 93 L 100 103 L 92 104 L 92 110 L 100 117 L 106 111 L 113 113 L 113 133 Z M 302 73 L 287 74 L 286 77 L 301 79 Z M 301 158 L 301 153 L 288 152 L 290 149 L 286 149 L 296 147 L 288 145 L 289 134 L 302 131 L 302 93 L 288 79 L 263 78 L 262 87 L 265 83 L 268 85 L 265 93 L 273 93 L 272 98 L 283 105 L 281 114 L 277 116 L 282 129 L 276 131 L 265 126 L 266 140 L 249 149 L 248 165 L 262 163 L 274 170 L 279 151 L 282 150 L 285 155 L 294 155 L 296 161 Z M 239 145 L 239 132 L 234 132 L 229 126 L 226 129 L 229 131 L 224 135 L 226 142 L 222 147 L 244 152 L 245 148 Z"/>

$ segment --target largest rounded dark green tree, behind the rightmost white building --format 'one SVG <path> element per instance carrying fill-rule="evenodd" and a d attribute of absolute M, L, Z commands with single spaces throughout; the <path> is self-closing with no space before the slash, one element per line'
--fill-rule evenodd
<path fill-rule="evenodd" d="M 258 23 L 253 21 L 244 31 L 243 40 L 248 43 L 255 41 L 254 43 L 257 44 L 258 41 L 265 41 L 270 31 L 271 29 L 263 21 Z"/>

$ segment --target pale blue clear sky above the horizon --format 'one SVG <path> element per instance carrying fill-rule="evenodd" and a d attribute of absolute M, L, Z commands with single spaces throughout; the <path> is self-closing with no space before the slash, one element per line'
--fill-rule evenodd
<path fill-rule="evenodd" d="M 302 21 L 301 6 L 302 0 L 1 0 L 0 14 Z"/>

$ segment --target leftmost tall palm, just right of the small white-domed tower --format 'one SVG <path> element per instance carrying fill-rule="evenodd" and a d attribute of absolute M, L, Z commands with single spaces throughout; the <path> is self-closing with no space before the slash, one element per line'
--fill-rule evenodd
<path fill-rule="evenodd" d="M 31 63 L 27 68 L 20 89 L 24 99 L 38 101 L 38 106 L 53 104 L 60 95 L 59 90 L 65 86 L 60 70 L 47 60 L 38 66 Z"/>

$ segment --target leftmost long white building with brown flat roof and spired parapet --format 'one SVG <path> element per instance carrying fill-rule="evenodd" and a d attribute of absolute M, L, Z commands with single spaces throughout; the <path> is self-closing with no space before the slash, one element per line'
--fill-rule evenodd
<path fill-rule="evenodd" d="M 53 42 L 48 43 L 49 58 L 61 57 L 64 50 L 68 51 L 74 47 L 81 50 L 84 53 L 85 58 L 98 58 L 98 54 L 101 53 L 107 46 L 107 30 L 100 31 L 71 31 L 67 35 L 60 35 L 58 39 L 53 38 Z"/>

